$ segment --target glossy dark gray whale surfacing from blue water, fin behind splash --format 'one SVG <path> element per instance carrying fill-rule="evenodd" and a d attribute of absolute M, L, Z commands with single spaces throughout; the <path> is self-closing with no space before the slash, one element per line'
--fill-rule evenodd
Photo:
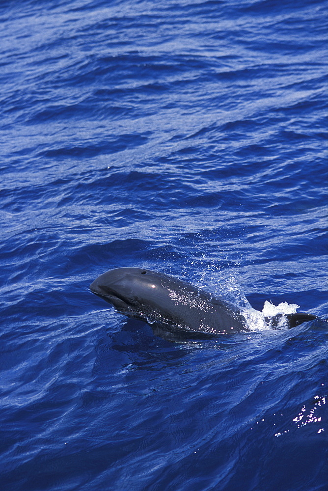
<path fill-rule="evenodd" d="M 242 312 L 222 298 L 174 276 L 141 268 L 116 268 L 101 274 L 90 290 L 121 314 L 164 327 L 188 337 L 216 336 L 248 331 Z M 278 314 L 271 318 L 277 325 Z M 311 314 L 287 314 L 289 327 L 316 319 Z M 202 337 L 202 336 L 201 336 Z"/>

